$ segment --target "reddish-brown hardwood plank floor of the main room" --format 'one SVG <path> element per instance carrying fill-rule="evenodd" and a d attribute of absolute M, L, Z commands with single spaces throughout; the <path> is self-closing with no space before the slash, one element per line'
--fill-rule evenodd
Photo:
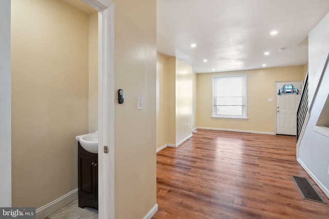
<path fill-rule="evenodd" d="M 199 129 L 157 153 L 153 218 L 329 218 L 329 205 L 304 200 L 290 175 L 309 177 L 295 136 Z"/>

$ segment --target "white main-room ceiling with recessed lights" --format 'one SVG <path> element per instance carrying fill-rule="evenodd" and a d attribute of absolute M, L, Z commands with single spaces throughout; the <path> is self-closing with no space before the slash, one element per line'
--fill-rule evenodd
<path fill-rule="evenodd" d="M 196 73 L 304 65 L 328 12 L 328 0 L 157 0 L 157 50 Z"/>

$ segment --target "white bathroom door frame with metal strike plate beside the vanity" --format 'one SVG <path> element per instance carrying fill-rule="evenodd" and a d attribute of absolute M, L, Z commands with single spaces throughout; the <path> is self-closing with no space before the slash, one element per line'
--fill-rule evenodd
<path fill-rule="evenodd" d="M 81 0 L 98 11 L 98 215 L 115 218 L 114 4 Z M 104 153 L 104 146 L 108 153 Z"/>

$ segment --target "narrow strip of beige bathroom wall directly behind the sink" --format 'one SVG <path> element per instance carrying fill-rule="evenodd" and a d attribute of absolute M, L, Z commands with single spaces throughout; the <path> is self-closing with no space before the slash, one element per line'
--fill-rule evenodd
<path fill-rule="evenodd" d="M 88 17 L 89 133 L 98 130 L 98 12 Z"/>

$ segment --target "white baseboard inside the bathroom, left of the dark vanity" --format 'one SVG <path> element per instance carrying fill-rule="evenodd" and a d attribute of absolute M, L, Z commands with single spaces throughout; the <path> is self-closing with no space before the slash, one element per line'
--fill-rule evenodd
<path fill-rule="evenodd" d="M 35 210 L 35 218 L 42 219 L 46 216 L 49 216 L 53 212 L 58 211 L 59 209 L 63 208 L 64 206 L 70 204 L 71 202 L 75 201 L 78 198 L 78 188 L 70 191 L 69 193 L 63 195 L 57 200 L 48 203 L 47 205 L 38 208 Z"/>

